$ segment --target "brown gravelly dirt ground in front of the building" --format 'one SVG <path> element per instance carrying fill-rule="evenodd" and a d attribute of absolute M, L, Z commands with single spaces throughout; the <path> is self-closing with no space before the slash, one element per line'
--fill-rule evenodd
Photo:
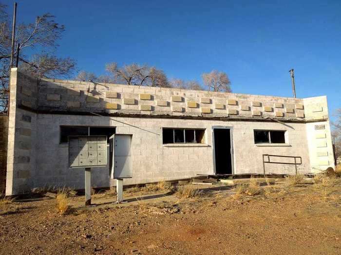
<path fill-rule="evenodd" d="M 341 254 L 340 180 L 239 198 L 233 186 L 199 187 L 199 198 L 132 193 L 124 206 L 104 194 L 82 208 L 74 197 L 66 215 L 56 200 L 7 204 L 0 254 Z"/>

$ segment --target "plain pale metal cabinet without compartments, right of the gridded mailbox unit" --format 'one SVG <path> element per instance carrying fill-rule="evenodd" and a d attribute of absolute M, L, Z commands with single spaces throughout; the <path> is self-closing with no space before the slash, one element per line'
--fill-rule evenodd
<path fill-rule="evenodd" d="M 132 135 L 114 135 L 114 179 L 132 178 Z"/>

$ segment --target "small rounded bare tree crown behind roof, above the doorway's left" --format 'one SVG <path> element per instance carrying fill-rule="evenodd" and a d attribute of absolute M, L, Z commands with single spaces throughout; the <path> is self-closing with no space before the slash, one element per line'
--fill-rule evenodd
<path fill-rule="evenodd" d="M 209 73 L 202 74 L 204 85 L 208 87 L 208 91 L 231 92 L 230 80 L 225 72 L 212 70 Z"/>

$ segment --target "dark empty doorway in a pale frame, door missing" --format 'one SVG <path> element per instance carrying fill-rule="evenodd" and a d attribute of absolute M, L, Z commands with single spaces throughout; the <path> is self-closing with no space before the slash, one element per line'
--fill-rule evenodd
<path fill-rule="evenodd" d="M 227 128 L 214 129 L 215 173 L 231 174 L 231 136 Z"/>

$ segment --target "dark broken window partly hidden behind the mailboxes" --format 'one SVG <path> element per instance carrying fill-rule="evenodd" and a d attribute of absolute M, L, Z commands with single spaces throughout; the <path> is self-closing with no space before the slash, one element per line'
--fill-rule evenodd
<path fill-rule="evenodd" d="M 67 143 L 68 136 L 110 136 L 115 134 L 114 127 L 60 126 L 60 143 Z"/>

